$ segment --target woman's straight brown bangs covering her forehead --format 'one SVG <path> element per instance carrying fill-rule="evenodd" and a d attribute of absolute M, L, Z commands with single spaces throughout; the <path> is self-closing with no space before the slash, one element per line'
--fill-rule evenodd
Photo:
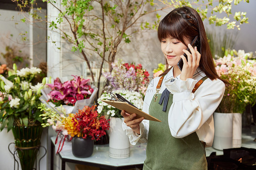
<path fill-rule="evenodd" d="M 189 25 L 177 12 L 171 12 L 161 20 L 158 27 L 158 39 L 173 37 L 184 43 L 184 37 L 188 37 L 186 34 L 186 28 Z"/>

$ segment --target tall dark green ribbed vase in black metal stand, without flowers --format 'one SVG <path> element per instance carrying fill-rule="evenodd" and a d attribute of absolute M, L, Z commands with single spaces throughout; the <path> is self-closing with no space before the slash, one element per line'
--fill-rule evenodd
<path fill-rule="evenodd" d="M 41 146 L 42 131 L 43 127 L 40 122 L 29 120 L 28 126 L 24 126 L 19 120 L 14 121 L 12 132 L 22 170 L 34 169 L 36 156 Z"/>

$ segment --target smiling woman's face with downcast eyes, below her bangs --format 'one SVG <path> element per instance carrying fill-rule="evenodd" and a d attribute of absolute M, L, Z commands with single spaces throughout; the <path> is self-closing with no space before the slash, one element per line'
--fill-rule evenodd
<path fill-rule="evenodd" d="M 189 44 L 189 40 L 185 39 L 185 43 Z M 185 44 L 173 37 L 162 39 L 161 41 L 162 52 L 170 66 L 177 66 L 180 59 L 179 56 L 184 54 L 182 50 L 187 48 Z"/>

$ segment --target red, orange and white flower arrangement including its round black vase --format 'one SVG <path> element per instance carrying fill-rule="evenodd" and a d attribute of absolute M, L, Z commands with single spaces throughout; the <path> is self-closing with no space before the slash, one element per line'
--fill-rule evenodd
<path fill-rule="evenodd" d="M 92 107 L 85 106 L 75 114 L 66 114 L 66 109 L 63 107 L 58 109 L 59 112 L 56 112 L 55 109 L 46 107 L 46 104 L 43 103 L 39 108 L 45 112 L 40 116 L 43 120 L 47 120 L 47 123 L 43 123 L 42 126 L 52 126 L 58 132 L 58 135 L 62 133 L 65 136 L 62 143 L 59 143 L 56 153 L 61 151 L 65 139 L 69 138 L 72 140 L 72 153 L 74 156 L 89 157 L 93 153 L 94 140 L 100 140 L 102 136 L 106 135 L 106 130 L 109 128 L 109 123 L 105 116 L 98 114 L 95 110 L 96 105 Z M 59 114 L 60 112 L 61 114 Z"/>

